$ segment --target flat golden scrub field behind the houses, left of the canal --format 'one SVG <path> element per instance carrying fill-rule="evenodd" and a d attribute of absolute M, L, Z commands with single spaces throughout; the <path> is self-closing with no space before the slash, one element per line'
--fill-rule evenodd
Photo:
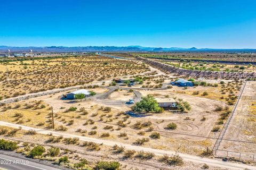
<path fill-rule="evenodd" d="M 149 67 L 141 62 L 100 56 L 1 63 L 0 99 L 80 84 L 86 85 L 93 81 L 103 81 L 146 71 L 149 71 Z"/>

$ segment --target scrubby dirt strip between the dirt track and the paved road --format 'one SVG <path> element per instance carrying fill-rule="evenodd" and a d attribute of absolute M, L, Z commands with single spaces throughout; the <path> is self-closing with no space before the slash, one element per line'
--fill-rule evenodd
<path fill-rule="evenodd" d="M 3 126 L 0 126 L 0 129 L 11 131 L 12 128 L 6 128 Z M 67 140 L 65 138 L 57 138 L 57 137 L 51 137 L 47 135 L 42 134 L 24 134 L 26 131 L 19 130 L 14 135 L 8 135 L 8 134 L 1 134 L 0 138 L 18 141 L 19 142 L 19 148 L 17 149 L 17 152 L 20 154 L 28 154 L 28 152 L 35 147 L 36 145 L 42 145 L 47 149 L 51 147 L 57 147 L 60 148 L 60 154 L 54 157 L 45 156 L 42 157 L 42 160 L 49 160 L 51 163 L 58 162 L 58 159 L 63 156 L 68 156 L 69 162 L 68 164 L 64 164 L 64 166 L 71 166 L 74 163 L 78 163 L 81 158 L 86 159 L 89 161 L 87 165 L 93 166 L 98 161 L 118 161 L 122 164 L 122 169 L 201 169 L 201 167 L 204 164 L 199 163 L 191 163 L 188 161 L 184 161 L 184 164 L 182 166 L 170 166 L 166 165 L 165 163 L 159 162 L 159 156 L 153 156 L 153 158 L 150 159 L 139 159 L 135 157 L 138 153 L 134 153 L 134 156 L 131 158 L 124 158 L 124 152 L 126 149 L 124 148 L 124 151 L 120 153 L 116 153 L 113 148 L 107 147 L 104 145 L 95 145 L 94 147 L 86 147 L 83 146 L 82 141 L 76 141 L 74 144 L 67 143 Z M 51 140 L 55 139 L 54 142 Z M 58 139 L 58 140 L 57 140 Z M 193 167 L 193 168 L 192 168 Z M 210 166 L 210 169 L 215 169 L 217 167 Z M 223 168 L 218 168 L 223 169 Z"/>

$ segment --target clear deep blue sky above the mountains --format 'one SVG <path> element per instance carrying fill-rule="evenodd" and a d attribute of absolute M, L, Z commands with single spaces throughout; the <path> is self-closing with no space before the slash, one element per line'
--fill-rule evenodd
<path fill-rule="evenodd" d="M 0 0 L 0 45 L 256 48 L 255 0 Z"/>

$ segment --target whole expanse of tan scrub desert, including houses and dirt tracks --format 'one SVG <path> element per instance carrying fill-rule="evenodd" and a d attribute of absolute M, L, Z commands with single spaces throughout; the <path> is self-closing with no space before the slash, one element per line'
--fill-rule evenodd
<path fill-rule="evenodd" d="M 113 56 L 3 60 L 2 138 L 18 141 L 16 152 L 23 155 L 29 155 L 36 146 L 58 152 L 35 158 L 74 169 L 115 159 L 122 169 L 188 169 L 191 164 L 198 169 L 218 167 L 185 159 L 187 155 L 211 159 L 229 156 L 231 162 L 240 159 L 243 164 L 254 165 L 254 81 L 170 74 L 143 63 L 137 59 L 138 53 L 106 55 Z M 253 68 L 246 67 L 243 72 L 254 72 Z M 184 82 L 192 85 L 184 86 Z M 168 107 L 154 104 L 151 108 L 146 102 Z M 246 128 L 241 128 L 243 125 Z M 161 158 L 150 149 L 173 154 L 162 154 Z M 239 153 L 247 150 L 251 155 L 241 157 Z M 69 161 L 60 163 L 62 159 Z"/>

